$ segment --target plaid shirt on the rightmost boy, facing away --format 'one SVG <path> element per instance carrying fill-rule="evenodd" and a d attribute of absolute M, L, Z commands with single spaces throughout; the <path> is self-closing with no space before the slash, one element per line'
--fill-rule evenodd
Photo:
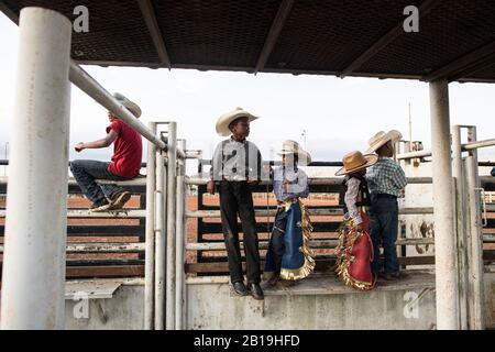
<path fill-rule="evenodd" d="M 370 194 L 387 194 L 399 197 L 400 189 L 406 187 L 406 174 L 402 167 L 389 157 L 380 156 L 375 165 L 366 173 Z"/>

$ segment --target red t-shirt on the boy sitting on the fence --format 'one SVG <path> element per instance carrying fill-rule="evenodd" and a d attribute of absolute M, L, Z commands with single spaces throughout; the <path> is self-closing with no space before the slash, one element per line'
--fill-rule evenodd
<path fill-rule="evenodd" d="M 143 156 L 141 134 L 120 120 L 113 120 L 107 133 L 110 130 L 117 132 L 117 139 L 113 141 L 113 156 L 108 170 L 125 178 L 138 176 Z"/>

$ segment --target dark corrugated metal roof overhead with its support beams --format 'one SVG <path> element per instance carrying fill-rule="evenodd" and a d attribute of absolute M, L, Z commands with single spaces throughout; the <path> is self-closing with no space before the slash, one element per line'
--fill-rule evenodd
<path fill-rule="evenodd" d="M 0 1 L 13 20 L 28 6 L 88 8 L 81 64 L 495 81 L 494 0 Z"/>

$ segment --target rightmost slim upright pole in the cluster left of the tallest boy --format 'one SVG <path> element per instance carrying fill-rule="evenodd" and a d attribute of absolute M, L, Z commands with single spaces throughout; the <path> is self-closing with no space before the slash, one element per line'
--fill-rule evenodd
<path fill-rule="evenodd" d="M 180 148 L 186 151 L 186 141 L 180 140 Z M 175 295 L 175 328 L 176 330 L 184 329 L 183 318 L 184 318 L 184 257 L 185 257 L 185 246 L 184 239 L 186 237 L 185 228 L 185 206 L 187 197 L 185 193 L 186 188 L 186 158 L 179 161 L 179 169 L 177 175 L 177 242 L 176 242 L 176 264 L 175 264 L 175 275 L 176 275 L 176 295 Z"/>

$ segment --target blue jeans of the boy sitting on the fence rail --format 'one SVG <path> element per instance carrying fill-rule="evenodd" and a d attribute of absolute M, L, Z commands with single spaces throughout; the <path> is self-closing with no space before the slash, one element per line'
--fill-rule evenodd
<path fill-rule="evenodd" d="M 128 178 L 113 175 L 108 170 L 110 163 L 97 161 L 73 161 L 70 162 L 70 170 L 76 178 L 80 190 L 94 204 L 99 204 L 105 198 L 111 198 L 116 193 L 123 191 L 122 187 L 116 185 L 99 185 L 96 179 L 124 180 Z"/>

